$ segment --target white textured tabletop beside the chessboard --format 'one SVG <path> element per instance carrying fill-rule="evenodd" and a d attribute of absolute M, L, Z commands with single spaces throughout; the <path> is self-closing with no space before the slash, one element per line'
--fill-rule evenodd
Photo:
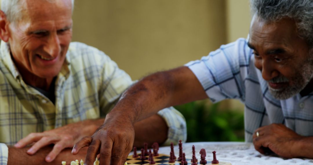
<path fill-rule="evenodd" d="M 183 143 L 183 152 L 187 158 L 192 158 L 192 145 L 196 148 L 196 157 L 200 159 L 199 151 L 204 148 L 207 152 L 207 160 L 213 160 L 213 151 L 219 161 L 229 162 L 232 165 L 313 165 L 313 159 L 283 159 L 275 156 L 262 155 L 254 149 L 252 143 L 242 142 L 197 142 Z M 170 154 L 170 146 L 160 147 L 159 153 Z M 176 157 L 178 157 L 178 145 L 174 146 Z M 313 151 L 312 151 L 313 152 Z M 190 163 L 188 163 L 190 164 Z"/>

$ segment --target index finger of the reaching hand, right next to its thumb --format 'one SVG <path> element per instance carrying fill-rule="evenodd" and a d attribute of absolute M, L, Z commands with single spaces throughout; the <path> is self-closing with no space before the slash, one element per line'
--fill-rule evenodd
<path fill-rule="evenodd" d="M 90 143 L 90 146 L 88 147 L 87 155 L 85 158 L 85 164 L 86 165 L 93 165 L 94 164 L 95 159 L 99 153 L 100 145 L 101 145 L 101 142 L 99 139 L 95 139 Z"/>

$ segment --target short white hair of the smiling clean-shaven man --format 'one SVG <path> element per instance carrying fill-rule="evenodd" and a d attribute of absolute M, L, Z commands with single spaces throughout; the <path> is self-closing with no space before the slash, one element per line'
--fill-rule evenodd
<path fill-rule="evenodd" d="M 46 0 L 52 2 L 51 0 Z M 74 0 L 72 1 L 72 12 L 74 10 Z M 1 10 L 6 14 L 9 22 L 15 22 L 22 19 L 21 0 L 1 0 Z"/>

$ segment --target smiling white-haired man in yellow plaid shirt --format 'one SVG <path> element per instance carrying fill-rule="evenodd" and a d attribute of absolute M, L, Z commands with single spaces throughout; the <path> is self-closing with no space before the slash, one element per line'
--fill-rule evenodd
<path fill-rule="evenodd" d="M 0 164 L 60 164 L 85 158 L 85 152 L 71 154 L 74 143 L 103 124 L 133 83 L 100 50 L 71 42 L 73 7 L 74 0 L 1 1 Z M 115 145 L 123 153 L 133 144 L 169 145 L 186 139 L 186 123 L 174 108 L 141 120 L 135 129 L 119 124 L 115 131 L 138 135 L 119 137 L 121 145 Z"/>

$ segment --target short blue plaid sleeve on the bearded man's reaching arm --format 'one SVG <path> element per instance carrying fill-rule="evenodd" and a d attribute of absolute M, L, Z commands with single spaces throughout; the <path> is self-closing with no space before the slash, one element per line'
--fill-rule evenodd
<path fill-rule="evenodd" d="M 249 73 L 251 56 L 246 40 L 239 38 L 185 66 L 195 74 L 212 102 L 230 98 L 244 101 L 244 79 Z"/>

